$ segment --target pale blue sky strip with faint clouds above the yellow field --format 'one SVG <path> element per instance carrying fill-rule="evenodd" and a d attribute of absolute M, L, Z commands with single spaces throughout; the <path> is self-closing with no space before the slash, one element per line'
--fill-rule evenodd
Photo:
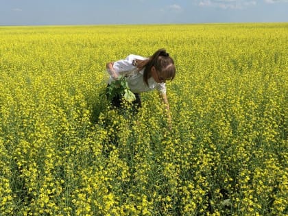
<path fill-rule="evenodd" d="M 288 0 L 0 0 L 0 25 L 288 22 Z"/>

